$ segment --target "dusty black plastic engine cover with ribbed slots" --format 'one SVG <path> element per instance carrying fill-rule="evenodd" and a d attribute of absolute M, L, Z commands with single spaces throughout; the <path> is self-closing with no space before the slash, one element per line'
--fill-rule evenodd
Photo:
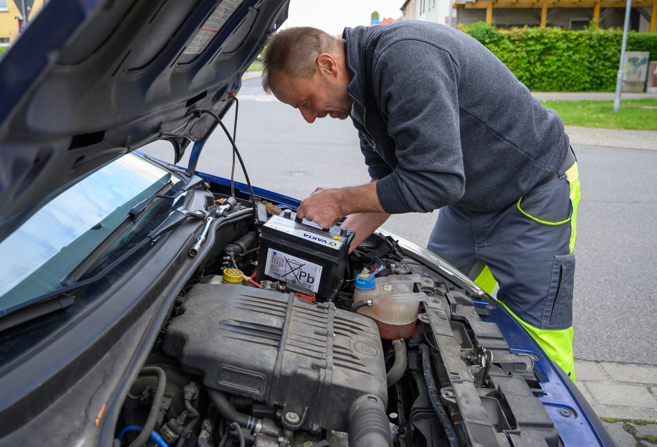
<path fill-rule="evenodd" d="M 164 337 L 164 352 L 204 384 L 294 412 L 289 429 L 347 431 L 363 394 L 388 401 L 378 328 L 367 317 L 284 293 L 194 286 Z"/>

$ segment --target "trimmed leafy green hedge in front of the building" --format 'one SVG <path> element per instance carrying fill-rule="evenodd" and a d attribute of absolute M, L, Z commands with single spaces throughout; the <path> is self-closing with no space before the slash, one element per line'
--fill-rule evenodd
<path fill-rule="evenodd" d="M 589 29 L 512 28 L 478 22 L 459 26 L 499 57 L 532 91 L 614 91 L 623 32 Z M 627 51 L 650 51 L 657 60 L 657 33 L 630 32 Z"/>

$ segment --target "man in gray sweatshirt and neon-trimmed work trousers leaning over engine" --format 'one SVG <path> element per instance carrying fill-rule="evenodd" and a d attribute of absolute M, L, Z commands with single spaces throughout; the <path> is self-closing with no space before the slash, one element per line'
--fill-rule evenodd
<path fill-rule="evenodd" d="M 579 180 L 561 119 L 483 45 L 402 21 L 273 35 L 263 87 L 306 121 L 351 117 L 373 179 L 317 188 L 298 215 L 348 215 L 356 246 L 392 213 L 440 209 L 428 248 L 476 280 L 575 378 Z"/>

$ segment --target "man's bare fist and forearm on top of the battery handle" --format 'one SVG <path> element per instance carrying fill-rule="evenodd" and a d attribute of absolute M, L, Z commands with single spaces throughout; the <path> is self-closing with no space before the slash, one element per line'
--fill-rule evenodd
<path fill-rule="evenodd" d="M 353 213 L 384 213 L 376 196 L 376 182 L 346 188 L 317 188 L 301 202 L 296 214 L 322 228 Z"/>

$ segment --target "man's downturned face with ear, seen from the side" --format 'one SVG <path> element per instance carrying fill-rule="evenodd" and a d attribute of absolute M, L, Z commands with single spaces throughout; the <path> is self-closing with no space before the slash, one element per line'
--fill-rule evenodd
<path fill-rule="evenodd" d="M 271 91 L 284 104 L 299 109 L 309 123 L 329 115 L 347 119 L 351 114 L 353 99 L 347 94 L 346 85 L 321 73 L 312 79 L 277 73 Z"/>

